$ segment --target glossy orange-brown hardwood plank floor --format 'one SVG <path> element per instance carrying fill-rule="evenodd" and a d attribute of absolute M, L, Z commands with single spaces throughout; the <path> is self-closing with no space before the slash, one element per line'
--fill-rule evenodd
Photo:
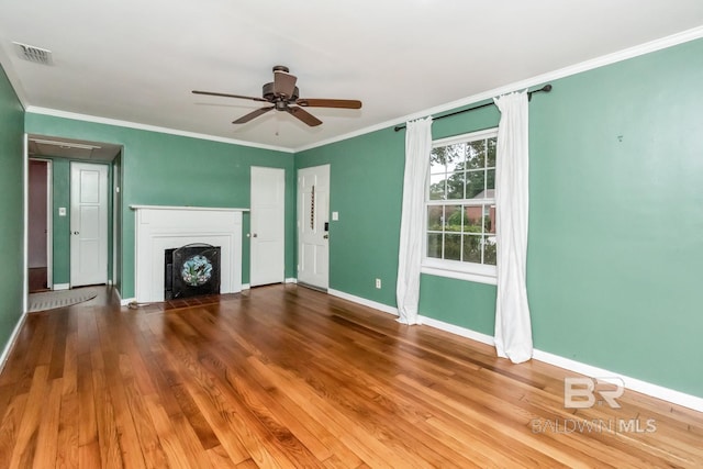
<path fill-rule="evenodd" d="M 27 316 L 0 467 L 703 467 L 703 414 L 297 286 Z M 676 365 L 676 364 L 672 364 Z"/>

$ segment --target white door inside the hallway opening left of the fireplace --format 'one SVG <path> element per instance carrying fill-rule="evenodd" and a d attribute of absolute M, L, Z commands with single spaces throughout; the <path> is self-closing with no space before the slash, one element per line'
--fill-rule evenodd
<path fill-rule="evenodd" d="M 70 284 L 108 282 L 108 166 L 70 164 Z"/>

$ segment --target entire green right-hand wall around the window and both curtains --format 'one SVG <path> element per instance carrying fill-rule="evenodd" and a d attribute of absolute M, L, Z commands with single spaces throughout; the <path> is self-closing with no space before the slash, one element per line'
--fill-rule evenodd
<path fill-rule="evenodd" d="M 535 347 L 703 397 L 703 40 L 551 81 L 529 107 Z M 494 108 L 436 121 L 440 138 Z M 330 287 L 395 305 L 404 132 L 301 152 L 330 164 Z M 382 290 L 372 279 L 383 276 Z M 422 276 L 421 314 L 493 334 L 495 288 Z M 685 367 L 679 364 L 688 364 Z M 693 364 L 693 365 L 691 365 Z"/>

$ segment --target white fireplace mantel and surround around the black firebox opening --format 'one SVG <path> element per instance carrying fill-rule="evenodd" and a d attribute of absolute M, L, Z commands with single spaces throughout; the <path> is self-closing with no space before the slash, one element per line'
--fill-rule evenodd
<path fill-rule="evenodd" d="M 191 243 L 220 246 L 220 292 L 242 291 L 242 212 L 248 209 L 130 205 L 135 220 L 135 293 L 164 301 L 164 252 Z"/>

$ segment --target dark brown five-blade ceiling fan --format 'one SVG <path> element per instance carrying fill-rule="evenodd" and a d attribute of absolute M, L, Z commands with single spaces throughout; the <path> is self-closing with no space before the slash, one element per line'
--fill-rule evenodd
<path fill-rule="evenodd" d="M 264 85 L 263 98 L 198 90 L 193 90 L 193 93 L 220 96 L 225 98 L 250 99 L 253 101 L 268 102 L 274 104 L 249 112 L 248 114 L 243 115 L 242 118 L 232 122 L 233 124 L 245 124 L 250 120 L 275 109 L 277 111 L 286 111 L 312 127 L 322 124 L 322 121 L 302 108 L 361 108 L 361 101 L 352 99 L 300 98 L 300 91 L 295 86 L 295 81 L 298 81 L 298 77 L 291 75 L 288 67 L 277 65 L 276 67 L 274 67 L 274 81 Z"/>

